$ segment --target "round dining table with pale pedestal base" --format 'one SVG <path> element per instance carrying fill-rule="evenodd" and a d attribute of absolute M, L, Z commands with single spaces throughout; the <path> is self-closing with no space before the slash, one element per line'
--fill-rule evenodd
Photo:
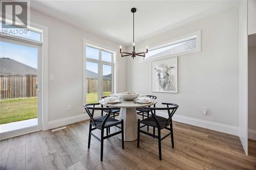
<path fill-rule="evenodd" d="M 118 119 L 123 119 L 123 130 L 124 130 L 124 141 L 134 141 L 137 139 L 137 125 L 138 125 L 138 115 L 136 108 L 147 107 L 157 103 L 155 99 L 151 99 L 151 103 L 139 104 L 134 101 L 122 100 L 118 104 L 104 104 L 104 100 L 100 100 L 99 103 L 104 106 L 120 108 L 120 113 Z M 121 134 L 117 137 L 121 139 Z"/>

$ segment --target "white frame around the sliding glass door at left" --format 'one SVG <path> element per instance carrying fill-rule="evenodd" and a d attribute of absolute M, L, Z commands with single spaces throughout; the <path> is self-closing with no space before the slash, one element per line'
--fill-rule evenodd
<path fill-rule="evenodd" d="M 41 76 L 41 82 L 40 82 L 40 106 L 37 106 L 37 109 L 40 109 L 40 120 L 38 121 L 38 125 L 35 127 L 28 127 L 28 128 L 22 128 L 19 130 L 4 132 L 0 134 L 0 140 L 24 135 L 27 133 L 36 132 L 39 130 L 48 130 L 48 28 L 45 26 L 38 25 L 37 23 L 30 22 L 30 25 L 34 28 L 40 29 L 41 32 L 41 42 L 29 40 L 22 37 L 17 36 L 11 36 L 11 35 L 3 35 L 0 34 L 0 38 L 7 39 L 8 41 L 14 40 L 14 41 L 20 41 L 20 42 L 27 42 L 34 45 L 40 45 L 40 50 L 38 50 L 38 53 L 40 51 L 40 76 Z M 38 70 L 38 67 L 37 67 Z M 38 98 L 37 98 L 38 99 Z"/>

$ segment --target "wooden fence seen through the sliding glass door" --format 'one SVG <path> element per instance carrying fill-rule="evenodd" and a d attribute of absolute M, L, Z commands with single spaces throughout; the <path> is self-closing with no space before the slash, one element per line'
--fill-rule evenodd
<path fill-rule="evenodd" d="M 0 74 L 0 99 L 37 96 L 36 75 Z"/>

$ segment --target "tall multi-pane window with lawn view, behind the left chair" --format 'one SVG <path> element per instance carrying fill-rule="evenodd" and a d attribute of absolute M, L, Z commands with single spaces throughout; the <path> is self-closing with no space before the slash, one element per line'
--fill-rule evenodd
<path fill-rule="evenodd" d="M 101 96 L 113 93 L 114 53 L 86 46 L 86 103 L 98 103 Z"/>

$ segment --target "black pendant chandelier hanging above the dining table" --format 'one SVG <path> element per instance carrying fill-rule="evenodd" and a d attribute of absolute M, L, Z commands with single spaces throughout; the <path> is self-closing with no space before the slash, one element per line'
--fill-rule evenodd
<path fill-rule="evenodd" d="M 140 57 L 145 57 L 146 53 L 148 52 L 148 47 L 146 47 L 146 51 L 145 52 L 140 52 L 140 53 L 136 53 L 135 52 L 135 42 L 134 42 L 134 13 L 136 12 L 136 8 L 132 8 L 131 12 L 133 13 L 133 51 L 132 53 L 127 53 L 127 52 L 123 52 L 122 51 L 122 46 L 120 45 L 120 53 L 121 53 L 121 57 L 125 57 L 125 56 L 131 56 L 133 59 L 136 56 L 140 56 Z M 124 54 L 124 55 L 123 55 Z"/>

